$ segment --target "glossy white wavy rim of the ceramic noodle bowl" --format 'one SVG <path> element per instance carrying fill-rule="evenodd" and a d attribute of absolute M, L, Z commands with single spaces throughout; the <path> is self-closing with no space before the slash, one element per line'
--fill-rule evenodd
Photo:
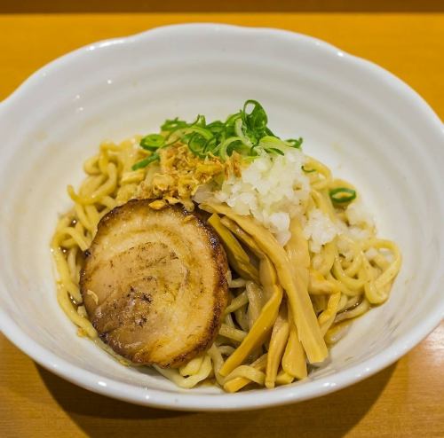
<path fill-rule="evenodd" d="M 28 89 L 35 87 L 41 79 L 49 72 L 56 72 L 59 68 L 63 68 L 68 60 L 82 59 L 89 51 L 98 50 L 116 44 L 124 44 L 136 42 L 139 40 L 147 40 L 155 35 L 168 35 L 174 32 L 182 32 L 184 30 L 196 30 L 202 32 L 220 31 L 237 32 L 238 34 L 268 33 L 270 35 L 292 38 L 295 41 L 303 41 L 313 45 L 313 49 L 321 49 L 328 51 L 330 54 L 336 54 L 345 61 L 365 66 L 368 70 L 379 76 L 385 81 L 392 82 L 404 94 L 408 94 L 414 100 L 416 109 L 426 116 L 432 124 L 440 131 L 440 135 L 444 140 L 444 126 L 440 118 L 433 112 L 432 108 L 421 98 L 415 90 L 410 88 L 405 82 L 391 74 L 381 66 L 370 62 L 366 59 L 353 56 L 337 49 L 337 47 L 314 38 L 313 36 L 298 34 L 288 30 L 275 29 L 270 27 L 241 27 L 226 24 L 215 23 L 186 23 L 178 25 L 169 25 L 162 27 L 154 27 L 147 31 L 91 43 L 86 46 L 71 51 L 66 55 L 52 60 L 42 68 L 31 74 L 28 79 L 23 82 L 19 88 L 12 94 L 0 102 L 0 117 L 6 111 L 7 106 L 12 105 L 13 101 L 26 94 Z M 437 289 L 439 286 L 439 278 L 434 278 L 431 288 Z M 123 400 L 125 402 L 137 403 L 140 405 L 152 406 L 157 408 L 166 408 L 170 410 L 180 411 L 242 411 L 249 409 L 266 408 L 287 403 L 301 402 L 316 396 L 327 395 L 333 391 L 337 391 L 343 387 L 352 385 L 365 379 L 385 367 L 393 364 L 400 356 L 403 356 L 411 348 L 414 348 L 421 340 L 425 338 L 432 330 L 440 324 L 444 318 L 444 299 L 440 301 L 429 316 L 420 324 L 412 327 L 408 332 L 404 333 L 398 340 L 392 343 L 390 348 L 378 353 L 376 356 L 361 362 L 361 364 L 335 373 L 332 376 L 323 377 L 315 381 L 308 381 L 302 385 L 276 387 L 272 391 L 264 391 L 263 389 L 251 390 L 237 394 L 202 394 L 191 391 L 171 392 L 162 389 L 148 389 L 143 387 L 135 387 L 131 384 L 117 382 L 108 379 L 98 373 L 89 372 L 82 367 L 70 364 L 51 351 L 42 347 L 38 342 L 32 340 L 21 330 L 12 317 L 9 317 L 4 309 L 0 308 L 0 331 L 4 333 L 6 338 L 12 341 L 16 347 L 20 348 L 24 353 L 42 365 L 45 369 L 54 372 L 59 377 L 67 379 L 75 383 L 79 387 L 91 390 L 99 395 L 107 395 L 113 398 Z M 180 390 L 181 391 L 181 390 Z M 260 393 L 260 395 L 259 395 Z"/>

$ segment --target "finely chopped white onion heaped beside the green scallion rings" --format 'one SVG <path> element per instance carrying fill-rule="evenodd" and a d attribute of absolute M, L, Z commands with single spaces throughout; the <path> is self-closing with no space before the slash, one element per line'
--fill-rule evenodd
<path fill-rule="evenodd" d="M 310 250 L 319 253 L 321 247 L 337 235 L 345 234 L 352 239 L 369 237 L 366 225 L 371 227 L 371 217 L 356 200 L 345 209 L 347 226 L 342 221 L 333 223 L 320 209 L 306 212 L 311 192 L 309 178 L 302 170 L 307 158 L 299 149 L 288 149 L 285 155 L 265 154 L 254 160 L 248 168 L 242 169 L 242 176 L 229 176 L 219 190 L 203 185 L 194 194 L 194 201 L 217 199 L 232 207 L 239 215 L 252 215 L 259 223 L 272 231 L 284 246 L 290 237 L 289 223 L 297 216 L 302 224 Z M 344 245 L 343 255 L 349 249 Z"/>

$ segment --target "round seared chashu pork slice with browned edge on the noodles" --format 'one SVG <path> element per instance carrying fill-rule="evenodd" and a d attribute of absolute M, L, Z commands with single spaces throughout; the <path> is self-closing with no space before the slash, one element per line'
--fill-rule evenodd
<path fill-rule="evenodd" d="M 202 216 L 150 202 L 131 200 L 102 218 L 80 287 L 92 325 L 116 353 L 178 367 L 218 334 L 228 265 Z"/>

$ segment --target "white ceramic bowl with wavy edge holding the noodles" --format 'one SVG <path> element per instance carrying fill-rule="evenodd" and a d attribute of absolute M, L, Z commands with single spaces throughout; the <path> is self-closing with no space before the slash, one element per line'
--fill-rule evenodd
<path fill-rule="evenodd" d="M 49 241 L 83 160 L 105 138 L 167 117 L 223 117 L 258 99 L 283 137 L 352 181 L 404 261 L 390 300 L 353 324 L 329 364 L 274 390 L 179 390 L 117 364 L 55 297 Z M 0 105 L 0 328 L 48 370 L 103 395 L 181 410 L 237 410 L 324 395 L 392 364 L 444 314 L 444 129 L 422 98 L 368 61 L 304 35 L 221 25 L 161 27 L 74 51 Z M 424 371 L 426 372 L 426 370 Z"/>

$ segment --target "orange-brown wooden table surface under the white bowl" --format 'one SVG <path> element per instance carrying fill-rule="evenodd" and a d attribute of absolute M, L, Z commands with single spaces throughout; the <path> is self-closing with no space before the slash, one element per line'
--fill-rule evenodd
<path fill-rule="evenodd" d="M 0 15 L 0 100 L 39 66 L 94 41 L 185 21 L 281 27 L 371 59 L 444 119 L 444 14 Z M 237 413 L 148 409 L 52 375 L 0 334 L 0 436 L 444 437 L 444 324 L 383 372 L 305 403 Z"/>

